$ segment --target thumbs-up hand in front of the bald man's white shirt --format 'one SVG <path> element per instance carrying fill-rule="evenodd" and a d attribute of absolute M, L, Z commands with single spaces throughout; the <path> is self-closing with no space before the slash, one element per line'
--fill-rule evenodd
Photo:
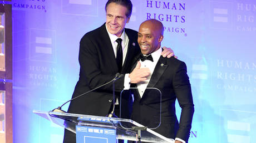
<path fill-rule="evenodd" d="M 139 83 L 140 81 L 147 80 L 147 76 L 149 75 L 149 68 L 140 68 L 140 62 L 138 62 L 134 70 L 129 74 L 130 83 Z"/>

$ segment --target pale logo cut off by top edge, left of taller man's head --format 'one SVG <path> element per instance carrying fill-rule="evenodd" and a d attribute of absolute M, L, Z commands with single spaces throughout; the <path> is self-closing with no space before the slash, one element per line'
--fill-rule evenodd
<path fill-rule="evenodd" d="M 62 14 L 98 16 L 98 0 L 62 0 Z"/>

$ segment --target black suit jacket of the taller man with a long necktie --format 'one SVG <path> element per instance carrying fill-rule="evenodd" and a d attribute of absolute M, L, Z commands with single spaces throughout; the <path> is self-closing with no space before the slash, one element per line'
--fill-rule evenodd
<path fill-rule="evenodd" d="M 137 43 L 137 32 L 125 29 L 125 33 L 129 37 L 129 46 L 121 74 L 130 72 L 132 60 L 140 53 Z M 118 67 L 105 23 L 82 37 L 80 41 L 79 63 L 79 80 L 72 98 L 107 83 L 107 81 L 115 77 Z M 124 77 L 115 81 L 115 91 L 118 98 L 123 88 Z M 72 100 L 68 113 L 106 116 L 112 104 L 112 90 L 112 84 L 110 83 L 81 98 Z"/>

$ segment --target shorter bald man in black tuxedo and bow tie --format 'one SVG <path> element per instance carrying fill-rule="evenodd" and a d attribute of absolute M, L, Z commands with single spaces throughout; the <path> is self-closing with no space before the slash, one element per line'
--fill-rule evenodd
<path fill-rule="evenodd" d="M 155 131 L 175 139 L 175 143 L 188 142 L 194 114 L 189 77 L 184 62 L 173 57 L 161 57 L 163 31 L 163 24 L 155 19 L 140 25 L 137 41 L 142 54 L 137 57 L 139 62 L 136 61 L 136 67 L 129 75 L 130 83 L 137 87 L 131 119 L 144 126 L 156 127 L 161 113 L 161 124 Z M 149 68 L 152 73 L 145 81 L 137 78 L 140 67 Z M 156 90 L 146 88 L 159 89 L 161 100 Z M 181 107 L 180 122 L 175 114 L 176 99 Z"/>

